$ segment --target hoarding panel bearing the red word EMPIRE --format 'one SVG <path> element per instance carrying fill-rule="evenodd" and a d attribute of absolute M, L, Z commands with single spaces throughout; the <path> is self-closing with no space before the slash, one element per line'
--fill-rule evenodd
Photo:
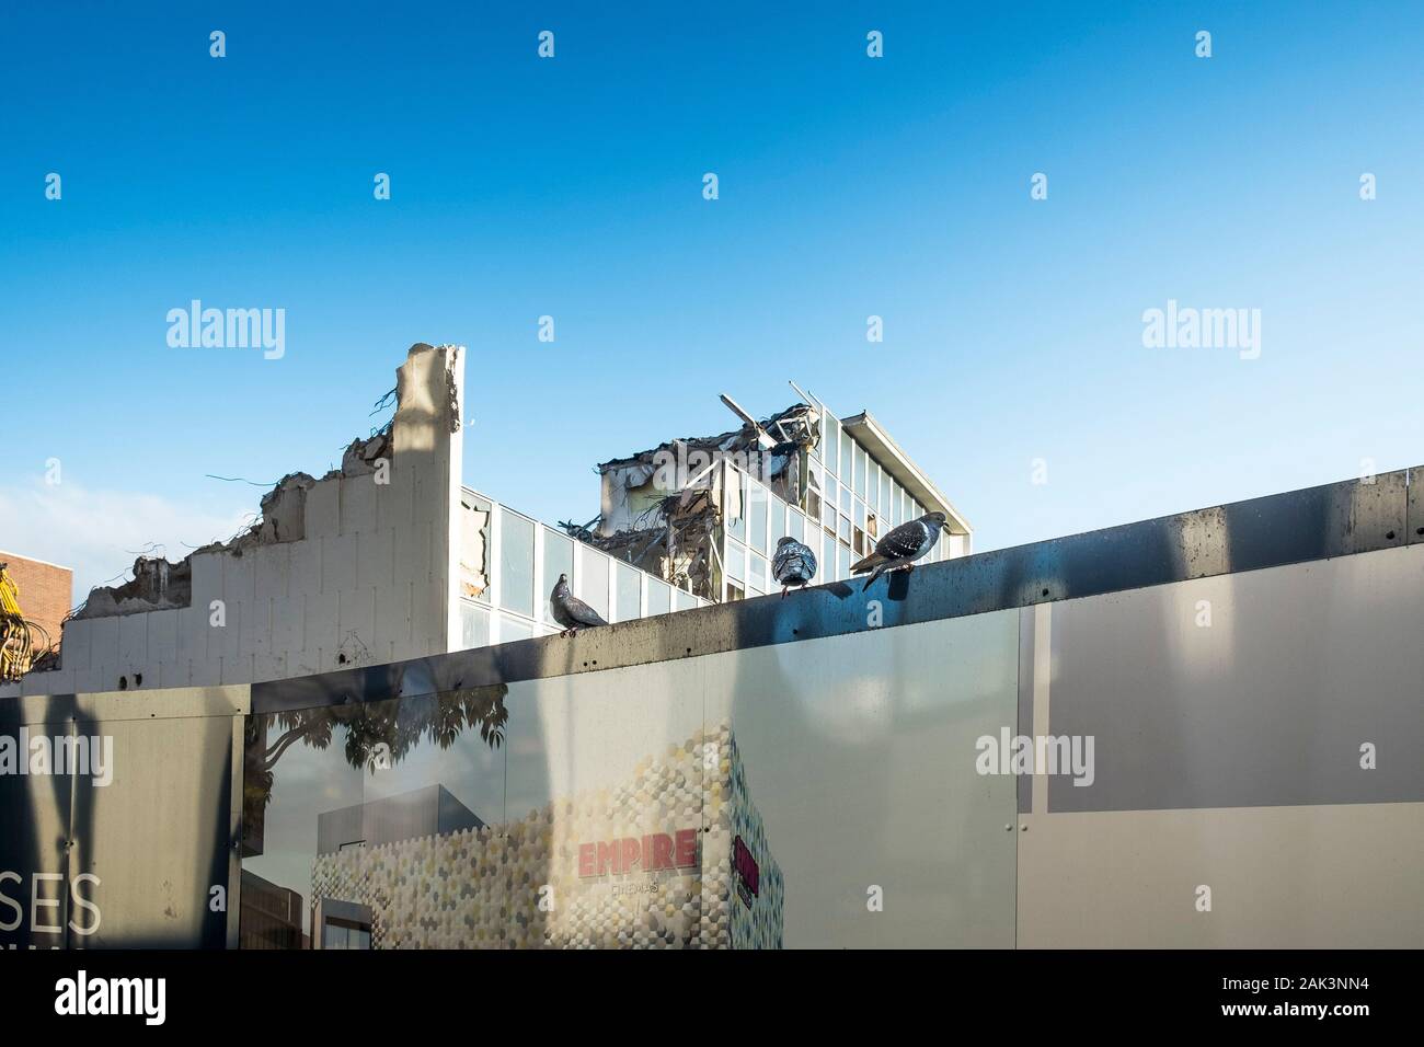
<path fill-rule="evenodd" d="M 510 687 L 508 863 L 524 947 L 725 947 L 709 906 L 696 660 Z"/>

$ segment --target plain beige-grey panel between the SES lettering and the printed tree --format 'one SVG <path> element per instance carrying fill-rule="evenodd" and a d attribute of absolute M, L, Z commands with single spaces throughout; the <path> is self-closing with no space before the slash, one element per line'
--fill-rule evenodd
<path fill-rule="evenodd" d="M 70 869 L 100 879 L 103 919 L 70 944 L 224 947 L 228 915 L 211 902 L 232 889 L 232 718 L 81 719 L 74 731 L 112 738 L 114 776 L 75 781 Z"/>

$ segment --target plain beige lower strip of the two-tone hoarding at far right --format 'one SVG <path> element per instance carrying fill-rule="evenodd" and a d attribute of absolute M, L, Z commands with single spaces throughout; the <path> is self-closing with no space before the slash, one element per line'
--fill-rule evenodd
<path fill-rule="evenodd" d="M 1424 803 L 1030 815 L 1025 949 L 1420 949 Z M 1198 907 L 1210 887 L 1212 909 Z"/>

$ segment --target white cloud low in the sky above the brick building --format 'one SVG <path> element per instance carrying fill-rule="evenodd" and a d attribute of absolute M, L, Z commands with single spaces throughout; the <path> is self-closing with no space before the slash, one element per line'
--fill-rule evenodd
<path fill-rule="evenodd" d="M 224 501 L 232 500 L 225 493 Z M 155 494 L 87 490 L 68 480 L 0 484 L 0 550 L 74 568 L 73 603 L 78 604 L 94 585 L 134 577 L 140 554 L 177 563 L 192 551 L 189 546 L 226 541 L 252 520 L 256 503 L 253 497 L 251 509 L 224 513 Z"/>

